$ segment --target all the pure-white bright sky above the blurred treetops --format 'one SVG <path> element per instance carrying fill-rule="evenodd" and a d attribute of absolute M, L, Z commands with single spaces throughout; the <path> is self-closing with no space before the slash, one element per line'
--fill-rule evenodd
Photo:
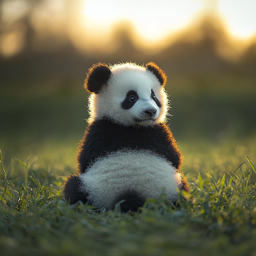
<path fill-rule="evenodd" d="M 130 20 L 147 40 L 159 40 L 196 20 L 202 13 L 215 13 L 229 33 L 249 38 L 256 33 L 256 0 L 87 0 L 83 22 L 95 33 L 111 28 L 117 20 Z"/>

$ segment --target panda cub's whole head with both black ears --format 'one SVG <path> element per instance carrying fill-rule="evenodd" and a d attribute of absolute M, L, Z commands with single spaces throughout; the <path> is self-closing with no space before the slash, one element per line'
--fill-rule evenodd
<path fill-rule="evenodd" d="M 93 65 L 85 79 L 90 92 L 89 123 L 107 118 L 123 126 L 147 127 L 163 122 L 168 112 L 166 75 L 153 62 Z"/>

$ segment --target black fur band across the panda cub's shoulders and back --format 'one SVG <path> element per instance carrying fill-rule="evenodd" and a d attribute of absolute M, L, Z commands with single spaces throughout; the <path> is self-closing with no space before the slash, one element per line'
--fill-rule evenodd
<path fill-rule="evenodd" d="M 135 128 L 101 119 L 88 126 L 80 141 L 76 157 L 78 173 L 84 173 L 97 157 L 121 148 L 148 149 L 165 157 L 177 170 L 182 165 L 182 154 L 166 124 Z"/>

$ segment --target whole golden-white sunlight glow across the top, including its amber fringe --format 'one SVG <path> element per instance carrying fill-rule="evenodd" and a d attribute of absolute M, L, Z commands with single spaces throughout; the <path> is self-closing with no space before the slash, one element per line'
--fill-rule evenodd
<path fill-rule="evenodd" d="M 255 13 L 256 0 L 3 0 L 0 51 L 12 56 L 27 44 L 70 40 L 88 54 L 112 54 L 126 43 L 157 53 L 180 38 L 198 42 L 208 19 L 222 53 L 234 56 L 256 40 Z"/>

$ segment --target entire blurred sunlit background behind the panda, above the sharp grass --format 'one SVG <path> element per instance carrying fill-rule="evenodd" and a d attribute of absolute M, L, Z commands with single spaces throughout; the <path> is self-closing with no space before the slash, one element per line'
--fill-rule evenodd
<path fill-rule="evenodd" d="M 200 152 L 222 148 L 236 164 L 255 159 L 255 13 L 254 0 L 1 0 L 5 162 L 74 169 L 88 118 L 83 79 L 99 61 L 154 61 L 166 72 L 169 124 L 193 168 Z"/>

